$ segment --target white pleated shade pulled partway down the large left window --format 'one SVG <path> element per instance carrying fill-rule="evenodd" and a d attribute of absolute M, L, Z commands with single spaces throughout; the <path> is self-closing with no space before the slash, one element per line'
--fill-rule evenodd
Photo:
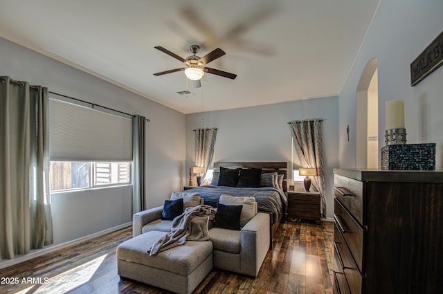
<path fill-rule="evenodd" d="M 49 131 L 51 160 L 132 160 L 129 118 L 50 99 Z"/>

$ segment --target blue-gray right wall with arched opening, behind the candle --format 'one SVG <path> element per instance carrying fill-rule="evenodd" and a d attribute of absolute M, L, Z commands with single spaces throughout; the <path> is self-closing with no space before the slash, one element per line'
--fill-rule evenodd
<path fill-rule="evenodd" d="M 402 99 L 408 143 L 436 143 L 436 168 L 443 168 L 443 67 L 413 87 L 409 69 L 410 63 L 442 33 L 442 12 L 440 0 L 381 0 L 339 99 L 341 167 L 356 166 L 356 88 L 366 64 L 377 57 L 379 146 L 385 145 L 385 102 Z M 347 125 L 350 142 L 343 139 Z"/>

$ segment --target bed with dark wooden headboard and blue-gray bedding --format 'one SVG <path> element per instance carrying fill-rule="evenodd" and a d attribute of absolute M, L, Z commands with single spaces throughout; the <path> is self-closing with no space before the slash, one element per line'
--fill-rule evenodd
<path fill-rule="evenodd" d="M 204 198 L 204 203 L 217 207 L 219 196 L 253 196 L 257 201 L 258 210 L 271 214 L 271 237 L 278 228 L 284 213 L 287 210 L 287 163 L 285 162 L 217 162 L 214 163 L 215 178 L 222 169 L 261 169 L 261 174 L 275 172 L 280 175 L 280 187 L 230 187 L 225 185 L 204 185 L 195 187 L 186 192 L 199 192 Z M 267 176 L 270 176 L 268 174 Z M 217 184 L 217 183 L 215 183 Z"/>

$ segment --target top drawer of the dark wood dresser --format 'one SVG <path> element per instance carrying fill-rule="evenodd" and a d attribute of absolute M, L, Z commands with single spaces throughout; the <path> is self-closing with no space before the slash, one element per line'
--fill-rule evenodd
<path fill-rule="evenodd" d="M 359 221 L 361 226 L 367 224 L 364 210 L 366 199 L 363 199 L 363 182 L 334 174 L 334 195 Z"/>

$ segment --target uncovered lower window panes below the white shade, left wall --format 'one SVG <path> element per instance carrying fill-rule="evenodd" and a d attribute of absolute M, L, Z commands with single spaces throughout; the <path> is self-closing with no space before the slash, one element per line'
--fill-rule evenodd
<path fill-rule="evenodd" d="M 130 183 L 125 162 L 51 161 L 51 192 Z"/>

